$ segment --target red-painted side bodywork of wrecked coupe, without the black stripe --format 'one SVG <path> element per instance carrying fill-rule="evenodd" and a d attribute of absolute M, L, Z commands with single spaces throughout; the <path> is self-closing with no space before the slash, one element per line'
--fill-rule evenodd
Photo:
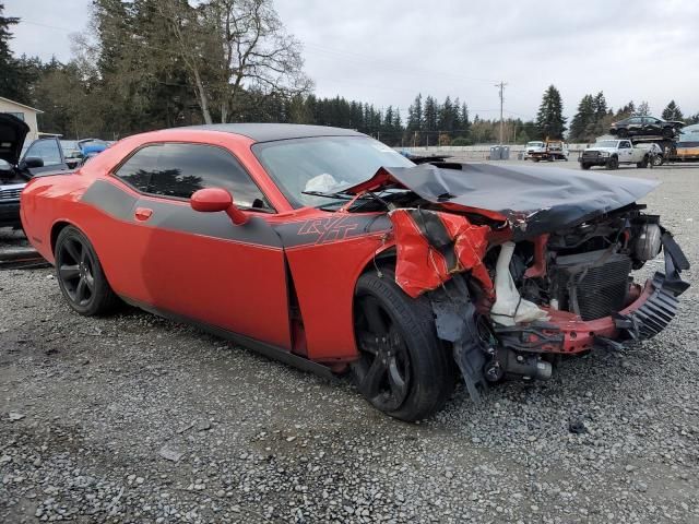
<path fill-rule="evenodd" d="M 158 213 L 152 211 L 155 203 L 197 215 L 188 202 L 141 194 L 111 175 L 134 150 L 155 142 L 213 144 L 229 151 L 277 211 L 244 213 L 270 228 L 296 225 L 300 242 L 285 249 L 151 226 L 149 212 L 154 217 Z M 294 210 L 251 153 L 252 143 L 247 136 L 204 130 L 165 130 L 125 139 L 74 174 L 32 180 L 22 195 L 27 236 L 54 262 L 55 228 L 72 224 L 90 238 L 115 293 L 130 301 L 285 350 L 296 348 L 311 360 L 353 360 L 357 355 L 354 285 L 375 254 L 392 242 L 380 230 L 358 235 L 356 224 L 343 227 L 336 213 Z M 130 218 L 117 218 L 81 200 L 96 181 L 137 201 Z M 372 214 L 352 218 L 363 215 Z M 230 224 L 235 227 L 247 226 Z M 289 319 L 289 277 L 304 326 L 303 334 L 296 334 L 303 338 L 297 344 Z"/>

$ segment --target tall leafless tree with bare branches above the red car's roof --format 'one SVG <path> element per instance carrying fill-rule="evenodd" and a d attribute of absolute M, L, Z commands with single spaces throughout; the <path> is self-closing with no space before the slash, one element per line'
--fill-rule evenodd
<path fill-rule="evenodd" d="M 197 93 L 202 117 L 226 122 L 244 92 L 293 96 L 310 91 L 300 43 L 286 33 L 270 0 L 154 0 Z"/>

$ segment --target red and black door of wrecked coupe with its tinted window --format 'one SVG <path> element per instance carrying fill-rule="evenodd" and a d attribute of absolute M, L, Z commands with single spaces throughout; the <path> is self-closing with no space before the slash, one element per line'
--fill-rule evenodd
<path fill-rule="evenodd" d="M 129 217 L 134 297 L 158 310 L 291 349 L 286 262 L 266 203 L 237 158 L 218 146 L 150 144 L 116 177 L 139 192 Z M 191 194 L 228 190 L 248 215 L 196 212 Z"/>

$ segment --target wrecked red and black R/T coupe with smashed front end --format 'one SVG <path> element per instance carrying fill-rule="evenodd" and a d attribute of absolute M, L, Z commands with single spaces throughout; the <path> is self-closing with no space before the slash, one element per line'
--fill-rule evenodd
<path fill-rule="evenodd" d="M 81 314 L 119 299 L 321 374 L 415 420 L 561 355 L 650 338 L 688 262 L 655 182 L 415 166 L 350 130 L 218 124 L 125 139 L 34 177 L 22 223 Z M 664 273 L 630 276 L 663 251 Z"/>

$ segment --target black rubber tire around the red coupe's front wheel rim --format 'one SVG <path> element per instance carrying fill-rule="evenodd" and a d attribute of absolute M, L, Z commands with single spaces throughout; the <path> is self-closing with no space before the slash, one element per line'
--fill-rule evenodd
<path fill-rule="evenodd" d="M 400 406 L 384 409 L 375 400 L 367 396 L 363 388 L 362 367 L 368 365 L 364 359 L 369 357 L 363 350 L 357 324 L 360 311 L 357 312 L 362 297 L 372 297 L 402 337 L 405 355 L 410 359 L 407 373 L 407 393 Z M 355 383 L 376 408 L 391 417 L 414 421 L 428 417 L 441 409 L 453 393 L 457 379 L 457 365 L 451 350 L 437 337 L 435 318 L 429 300 L 424 297 L 411 298 L 395 284 L 392 271 L 384 271 L 379 277 L 376 273 L 365 273 L 357 281 L 355 294 L 355 332 L 357 347 L 362 359 L 353 365 Z M 378 359 L 378 357 L 375 357 Z M 388 371 L 387 371 L 388 372 Z"/>

